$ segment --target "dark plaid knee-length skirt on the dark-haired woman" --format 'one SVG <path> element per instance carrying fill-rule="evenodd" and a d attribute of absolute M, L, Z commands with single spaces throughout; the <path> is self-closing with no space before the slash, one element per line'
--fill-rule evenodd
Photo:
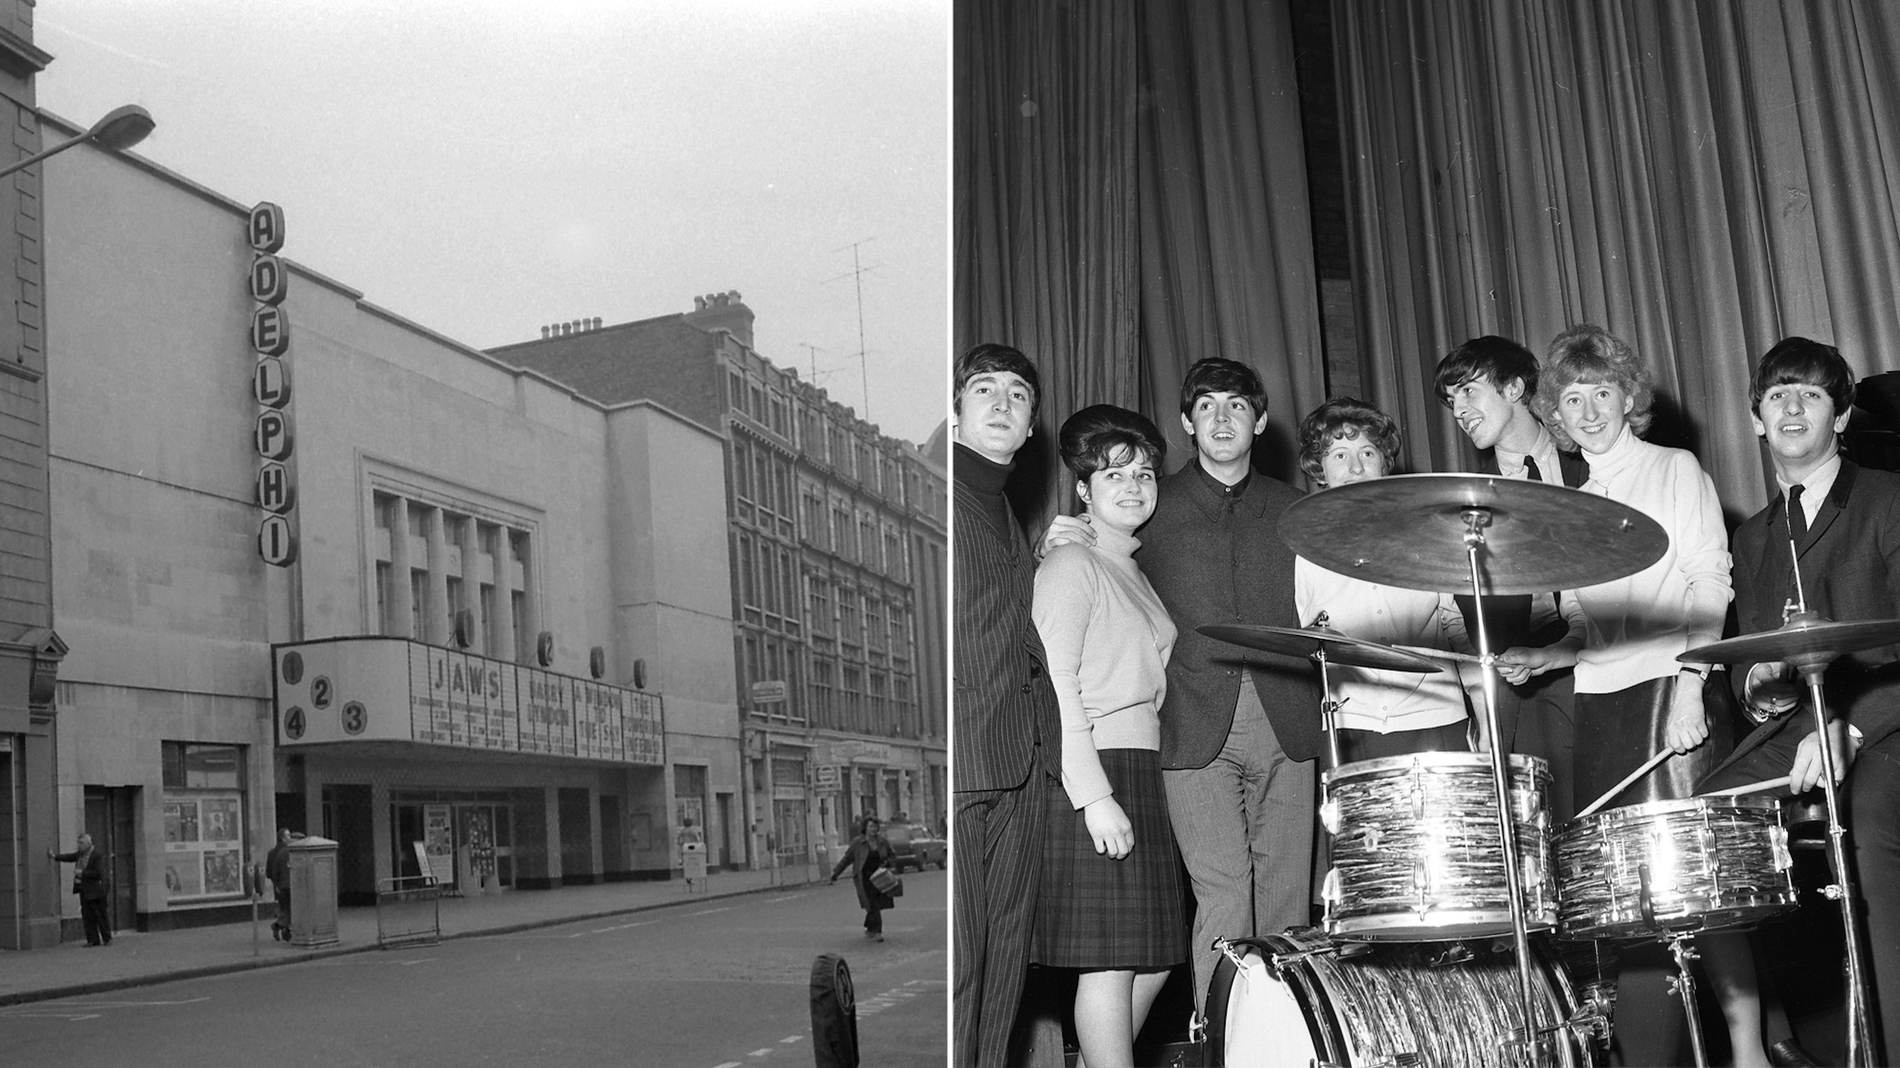
<path fill-rule="evenodd" d="M 1043 889 L 1036 910 L 1036 963 L 1081 969 L 1151 969 L 1188 960 L 1188 912 L 1174 827 L 1153 749 L 1102 749 L 1102 772 L 1134 825 L 1134 849 L 1115 861 L 1094 851 L 1068 792 L 1049 791 Z"/>

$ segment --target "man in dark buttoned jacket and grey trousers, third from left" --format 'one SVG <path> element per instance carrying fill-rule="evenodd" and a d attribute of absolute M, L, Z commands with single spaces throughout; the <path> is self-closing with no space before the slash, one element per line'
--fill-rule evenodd
<path fill-rule="evenodd" d="M 1214 939 L 1313 920 L 1313 758 L 1319 682 L 1305 659 L 1218 642 L 1195 627 L 1298 627 L 1294 551 L 1281 513 L 1294 486 L 1252 469 L 1267 390 L 1252 367 L 1208 357 L 1182 380 L 1195 458 L 1161 479 L 1136 561 L 1180 629 L 1161 705 L 1168 815 L 1193 884 L 1195 1005 Z"/>

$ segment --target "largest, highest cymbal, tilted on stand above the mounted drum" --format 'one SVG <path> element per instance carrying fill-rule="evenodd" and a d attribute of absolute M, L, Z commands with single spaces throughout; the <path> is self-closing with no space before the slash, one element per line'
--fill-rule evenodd
<path fill-rule="evenodd" d="M 1501 475 L 1395 475 L 1307 494 L 1281 536 L 1328 570 L 1381 585 L 1471 593 L 1467 513 L 1484 519 L 1484 593 L 1575 589 L 1662 559 L 1668 534 L 1642 511 Z"/>

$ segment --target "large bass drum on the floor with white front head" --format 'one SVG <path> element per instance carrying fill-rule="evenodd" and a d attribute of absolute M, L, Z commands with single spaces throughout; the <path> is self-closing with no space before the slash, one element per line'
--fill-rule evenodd
<path fill-rule="evenodd" d="M 1315 927 L 1235 939 L 1206 994 L 1212 1064 L 1514 1068 L 1503 1041 L 1522 1020 L 1518 965 L 1490 943 L 1357 944 L 1341 954 Z M 1575 996 L 1564 963 L 1531 941 L 1539 1028 L 1569 1019 Z M 1539 1064 L 1585 1068 L 1590 1055 L 1569 1028 L 1548 1036 Z M 1416 1060 L 1412 1060 L 1416 1058 Z"/>

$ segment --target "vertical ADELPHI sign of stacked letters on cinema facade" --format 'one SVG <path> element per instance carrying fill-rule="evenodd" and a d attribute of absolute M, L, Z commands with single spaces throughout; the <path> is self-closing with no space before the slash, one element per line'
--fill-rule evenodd
<path fill-rule="evenodd" d="M 256 369 L 251 395 L 256 399 L 256 505 L 264 519 L 256 526 L 256 553 L 266 564 L 296 563 L 296 481 L 291 473 L 291 374 L 285 352 L 291 348 L 291 317 L 283 295 L 291 279 L 277 258 L 283 247 L 283 209 L 264 201 L 251 209 L 245 224 L 251 239 L 251 348 Z"/>

